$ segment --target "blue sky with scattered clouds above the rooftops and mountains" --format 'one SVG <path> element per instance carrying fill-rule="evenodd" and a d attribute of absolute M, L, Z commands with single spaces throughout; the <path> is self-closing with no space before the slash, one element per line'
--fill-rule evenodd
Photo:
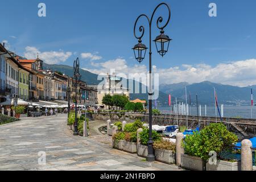
<path fill-rule="evenodd" d="M 38 16 L 40 2 L 46 3 L 45 18 Z M 144 71 L 148 66 L 148 55 L 141 65 L 132 58 L 131 48 L 137 43 L 133 26 L 138 15 L 151 15 L 160 2 L 163 1 L 1 0 L 1 6 L 5 8 L 1 9 L 4 16 L 1 19 L 0 41 L 5 41 L 12 51 L 27 55 L 28 58 L 39 52 L 39 56 L 48 63 L 72 65 L 73 60 L 79 56 L 81 67 L 96 73 L 106 72 L 118 63 L 122 64 L 117 68 L 120 71 Z M 165 33 L 173 40 L 163 58 L 156 53 L 152 44 L 155 72 L 164 76 L 167 72 L 176 71 L 168 75 L 164 83 L 210 80 L 240 86 L 256 84 L 251 73 L 241 80 L 241 75 L 245 77 L 243 73 L 247 73 L 256 61 L 255 1 L 164 2 L 171 6 L 172 16 Z M 217 5 L 217 17 L 208 15 L 210 2 Z M 167 10 L 159 9 L 154 22 L 158 15 L 167 17 Z M 144 19 L 141 20 L 146 28 L 142 41 L 148 46 L 146 23 Z M 159 30 L 154 23 L 152 39 L 157 35 Z M 81 53 L 85 53 L 84 58 Z M 241 71 L 238 67 L 245 63 L 250 65 Z M 232 72 L 223 76 L 225 73 L 220 72 L 225 72 L 226 67 L 230 67 L 230 72 L 237 68 L 240 75 L 230 78 L 230 75 L 234 75 Z M 220 72 L 216 73 L 218 69 Z M 213 76 L 196 77 L 199 72 L 210 72 Z M 188 76 L 184 77 L 184 74 Z M 201 77 L 204 79 L 201 80 Z"/>

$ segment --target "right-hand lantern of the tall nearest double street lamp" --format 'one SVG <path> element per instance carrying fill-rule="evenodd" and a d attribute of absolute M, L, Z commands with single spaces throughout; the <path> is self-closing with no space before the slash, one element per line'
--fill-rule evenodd
<path fill-rule="evenodd" d="M 164 35 L 163 30 L 161 30 L 160 33 L 161 34 L 158 35 L 153 41 L 155 42 L 156 50 L 163 57 L 166 52 L 168 52 L 168 48 L 172 39 L 170 39 L 168 35 Z"/>

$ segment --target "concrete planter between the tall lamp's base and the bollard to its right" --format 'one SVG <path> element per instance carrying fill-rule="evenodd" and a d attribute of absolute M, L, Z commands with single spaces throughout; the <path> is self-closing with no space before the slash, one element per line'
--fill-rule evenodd
<path fill-rule="evenodd" d="M 158 160 L 160 162 L 167 163 L 167 164 L 174 164 L 175 153 L 172 152 L 171 150 L 156 149 L 155 160 Z"/>

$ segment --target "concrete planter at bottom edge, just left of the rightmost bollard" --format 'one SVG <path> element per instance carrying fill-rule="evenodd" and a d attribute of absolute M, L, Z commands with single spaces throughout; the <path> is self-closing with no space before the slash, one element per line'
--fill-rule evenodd
<path fill-rule="evenodd" d="M 206 171 L 240 171 L 241 162 L 226 162 L 224 160 L 217 160 L 217 164 L 206 164 Z"/>

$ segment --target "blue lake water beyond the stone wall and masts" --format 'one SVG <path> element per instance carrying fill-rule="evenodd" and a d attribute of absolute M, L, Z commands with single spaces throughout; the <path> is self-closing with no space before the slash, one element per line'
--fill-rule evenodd
<path fill-rule="evenodd" d="M 153 109 L 155 109 L 153 107 Z M 170 114 L 170 107 L 157 107 L 156 109 L 161 110 L 164 113 Z M 221 108 L 219 106 L 220 112 Z M 196 107 L 191 107 L 189 115 L 197 115 Z M 205 106 L 201 106 L 201 115 L 205 116 Z M 215 107 L 214 106 L 207 106 L 207 116 L 215 117 Z M 217 117 L 219 116 L 217 110 Z M 224 117 L 241 117 L 241 118 L 251 118 L 251 106 L 225 106 L 224 105 Z M 256 119 L 256 106 L 253 106 L 253 118 Z"/>

